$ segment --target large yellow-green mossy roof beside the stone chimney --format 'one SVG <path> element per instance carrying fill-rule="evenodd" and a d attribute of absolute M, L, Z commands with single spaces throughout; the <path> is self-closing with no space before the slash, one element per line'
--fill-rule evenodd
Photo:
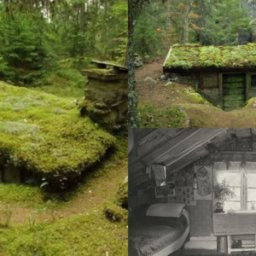
<path fill-rule="evenodd" d="M 70 99 L 0 82 L 0 160 L 32 172 L 79 174 L 114 143 Z"/>

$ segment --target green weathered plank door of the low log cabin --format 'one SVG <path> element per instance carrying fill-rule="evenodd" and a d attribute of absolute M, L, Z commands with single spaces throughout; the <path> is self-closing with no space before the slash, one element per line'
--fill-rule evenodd
<path fill-rule="evenodd" d="M 246 102 L 246 73 L 223 74 L 223 109 L 240 109 Z"/>

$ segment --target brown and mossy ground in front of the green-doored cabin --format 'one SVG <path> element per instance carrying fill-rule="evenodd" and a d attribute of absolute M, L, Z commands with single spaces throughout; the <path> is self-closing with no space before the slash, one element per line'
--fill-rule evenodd
<path fill-rule="evenodd" d="M 254 127 L 255 98 L 245 108 L 224 112 L 196 93 L 189 84 L 161 81 L 165 57 L 145 63 L 136 70 L 138 115 L 142 128 L 171 127 Z M 150 79 L 154 81 L 150 81 Z"/>

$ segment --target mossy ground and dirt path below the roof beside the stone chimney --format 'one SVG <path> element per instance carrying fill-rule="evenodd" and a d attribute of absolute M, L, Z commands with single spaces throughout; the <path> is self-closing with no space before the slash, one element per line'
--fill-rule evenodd
<path fill-rule="evenodd" d="M 74 100 L 76 94 L 68 96 Z M 112 222 L 104 216 L 128 173 L 127 132 L 116 138 L 116 148 L 71 192 L 0 185 L 0 255 L 90 256 L 105 255 L 107 249 L 110 255 L 127 255 L 126 217 Z"/>

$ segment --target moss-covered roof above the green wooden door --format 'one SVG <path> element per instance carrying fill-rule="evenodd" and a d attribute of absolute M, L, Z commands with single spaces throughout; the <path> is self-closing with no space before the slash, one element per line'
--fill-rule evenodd
<path fill-rule="evenodd" d="M 175 44 L 165 68 L 256 67 L 256 44 L 238 46 L 200 46 Z"/>

